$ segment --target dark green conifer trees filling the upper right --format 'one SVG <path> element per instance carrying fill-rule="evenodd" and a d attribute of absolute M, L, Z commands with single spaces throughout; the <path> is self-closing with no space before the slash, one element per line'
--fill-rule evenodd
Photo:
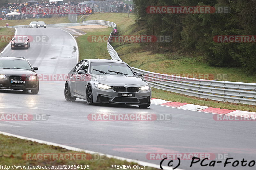
<path fill-rule="evenodd" d="M 203 54 L 215 67 L 243 67 L 256 71 L 255 0 L 133 0 L 136 23 L 148 35 L 171 35 L 172 42 L 161 44 L 178 51 Z M 211 13 L 152 13 L 149 7 L 214 7 Z M 222 11 L 227 8 L 228 12 Z M 250 40 L 222 41 L 218 35 L 251 35 Z M 242 36 L 241 36 L 242 37 Z M 230 37 L 226 37 L 230 38 Z M 231 37 L 232 38 L 232 37 Z M 248 37 L 247 37 L 248 38 Z M 219 41 L 217 41 L 219 40 Z M 248 39 L 247 39 L 248 40 Z M 221 42 L 222 41 L 222 42 Z"/>

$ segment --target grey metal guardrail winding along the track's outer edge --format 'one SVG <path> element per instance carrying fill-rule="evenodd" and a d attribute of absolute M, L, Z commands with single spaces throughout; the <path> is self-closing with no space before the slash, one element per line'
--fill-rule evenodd
<path fill-rule="evenodd" d="M 47 27 L 67 27 L 80 25 L 102 25 L 112 28 L 116 27 L 115 23 L 102 20 L 84 21 L 82 23 L 47 24 Z M 29 27 L 29 25 L 8 27 L 24 28 Z M 110 33 L 110 36 L 111 35 L 113 35 L 113 31 Z M 118 56 L 118 53 L 114 50 L 109 42 L 107 43 L 107 49 L 112 59 L 122 61 Z M 151 87 L 155 87 L 157 89 L 217 101 L 256 105 L 255 83 L 193 79 L 188 77 L 154 73 L 134 67 L 132 67 L 132 69 L 135 72 L 141 73 L 143 75 L 142 78 L 147 81 Z"/>

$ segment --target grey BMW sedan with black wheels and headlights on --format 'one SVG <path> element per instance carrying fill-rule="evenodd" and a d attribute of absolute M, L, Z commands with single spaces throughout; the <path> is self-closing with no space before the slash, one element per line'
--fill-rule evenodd
<path fill-rule="evenodd" d="M 108 59 L 81 60 L 69 72 L 64 95 L 67 101 L 84 99 L 87 104 L 114 103 L 139 105 L 151 103 L 151 88 L 123 61 Z"/>

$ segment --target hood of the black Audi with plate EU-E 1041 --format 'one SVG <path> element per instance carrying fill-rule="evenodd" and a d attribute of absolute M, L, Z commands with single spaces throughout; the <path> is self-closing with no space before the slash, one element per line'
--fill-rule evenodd
<path fill-rule="evenodd" d="M 21 70 L 21 69 L 0 69 L 0 74 L 6 76 L 30 76 L 36 75 L 33 70 Z"/>

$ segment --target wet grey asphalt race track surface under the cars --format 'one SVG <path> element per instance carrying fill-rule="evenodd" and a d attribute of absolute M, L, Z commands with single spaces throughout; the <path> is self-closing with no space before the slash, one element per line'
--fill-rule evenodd
<path fill-rule="evenodd" d="M 77 47 L 70 34 L 59 28 L 18 28 L 17 35 L 47 36 L 47 42 L 31 42 L 28 50 L 11 50 L 1 56 L 26 57 L 38 74 L 67 74 L 77 62 Z M 97 49 L 95 49 L 97 50 Z M 41 139 L 105 154 L 159 164 L 149 153 L 228 153 L 234 160 L 256 160 L 254 121 L 215 121 L 213 114 L 159 105 L 148 109 L 123 105 L 87 105 L 84 100 L 67 102 L 65 81 L 40 81 L 38 95 L 0 90 L 0 113 L 46 114 L 46 121 L 1 121 L 0 131 Z M 171 121 L 89 121 L 93 113 L 172 114 Z M 223 160 L 222 160 L 223 161 Z M 217 163 L 187 170 L 236 170 Z M 208 161 L 209 163 L 209 161 Z M 164 162 L 164 165 L 167 161 Z M 174 163 L 176 165 L 177 163 Z"/>

